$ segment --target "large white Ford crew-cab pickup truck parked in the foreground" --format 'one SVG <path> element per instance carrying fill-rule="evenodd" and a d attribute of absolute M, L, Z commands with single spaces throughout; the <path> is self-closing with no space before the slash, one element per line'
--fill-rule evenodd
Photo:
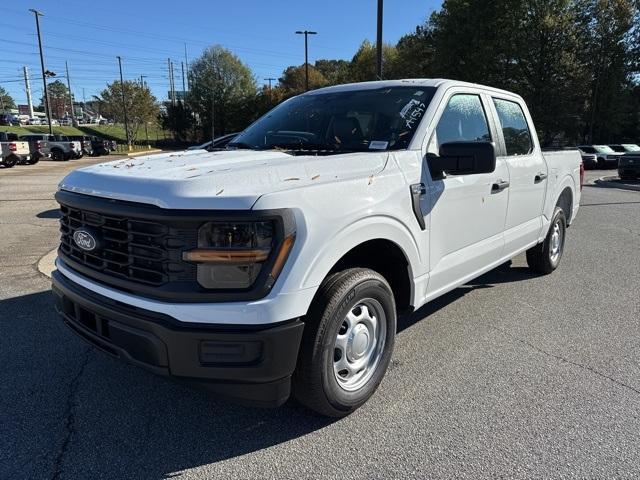
<path fill-rule="evenodd" d="M 323 88 L 227 150 L 69 174 L 56 305 L 86 341 L 158 374 L 343 416 L 382 380 L 399 313 L 523 252 L 552 272 L 580 189 L 578 151 L 542 154 L 512 93 Z"/>

